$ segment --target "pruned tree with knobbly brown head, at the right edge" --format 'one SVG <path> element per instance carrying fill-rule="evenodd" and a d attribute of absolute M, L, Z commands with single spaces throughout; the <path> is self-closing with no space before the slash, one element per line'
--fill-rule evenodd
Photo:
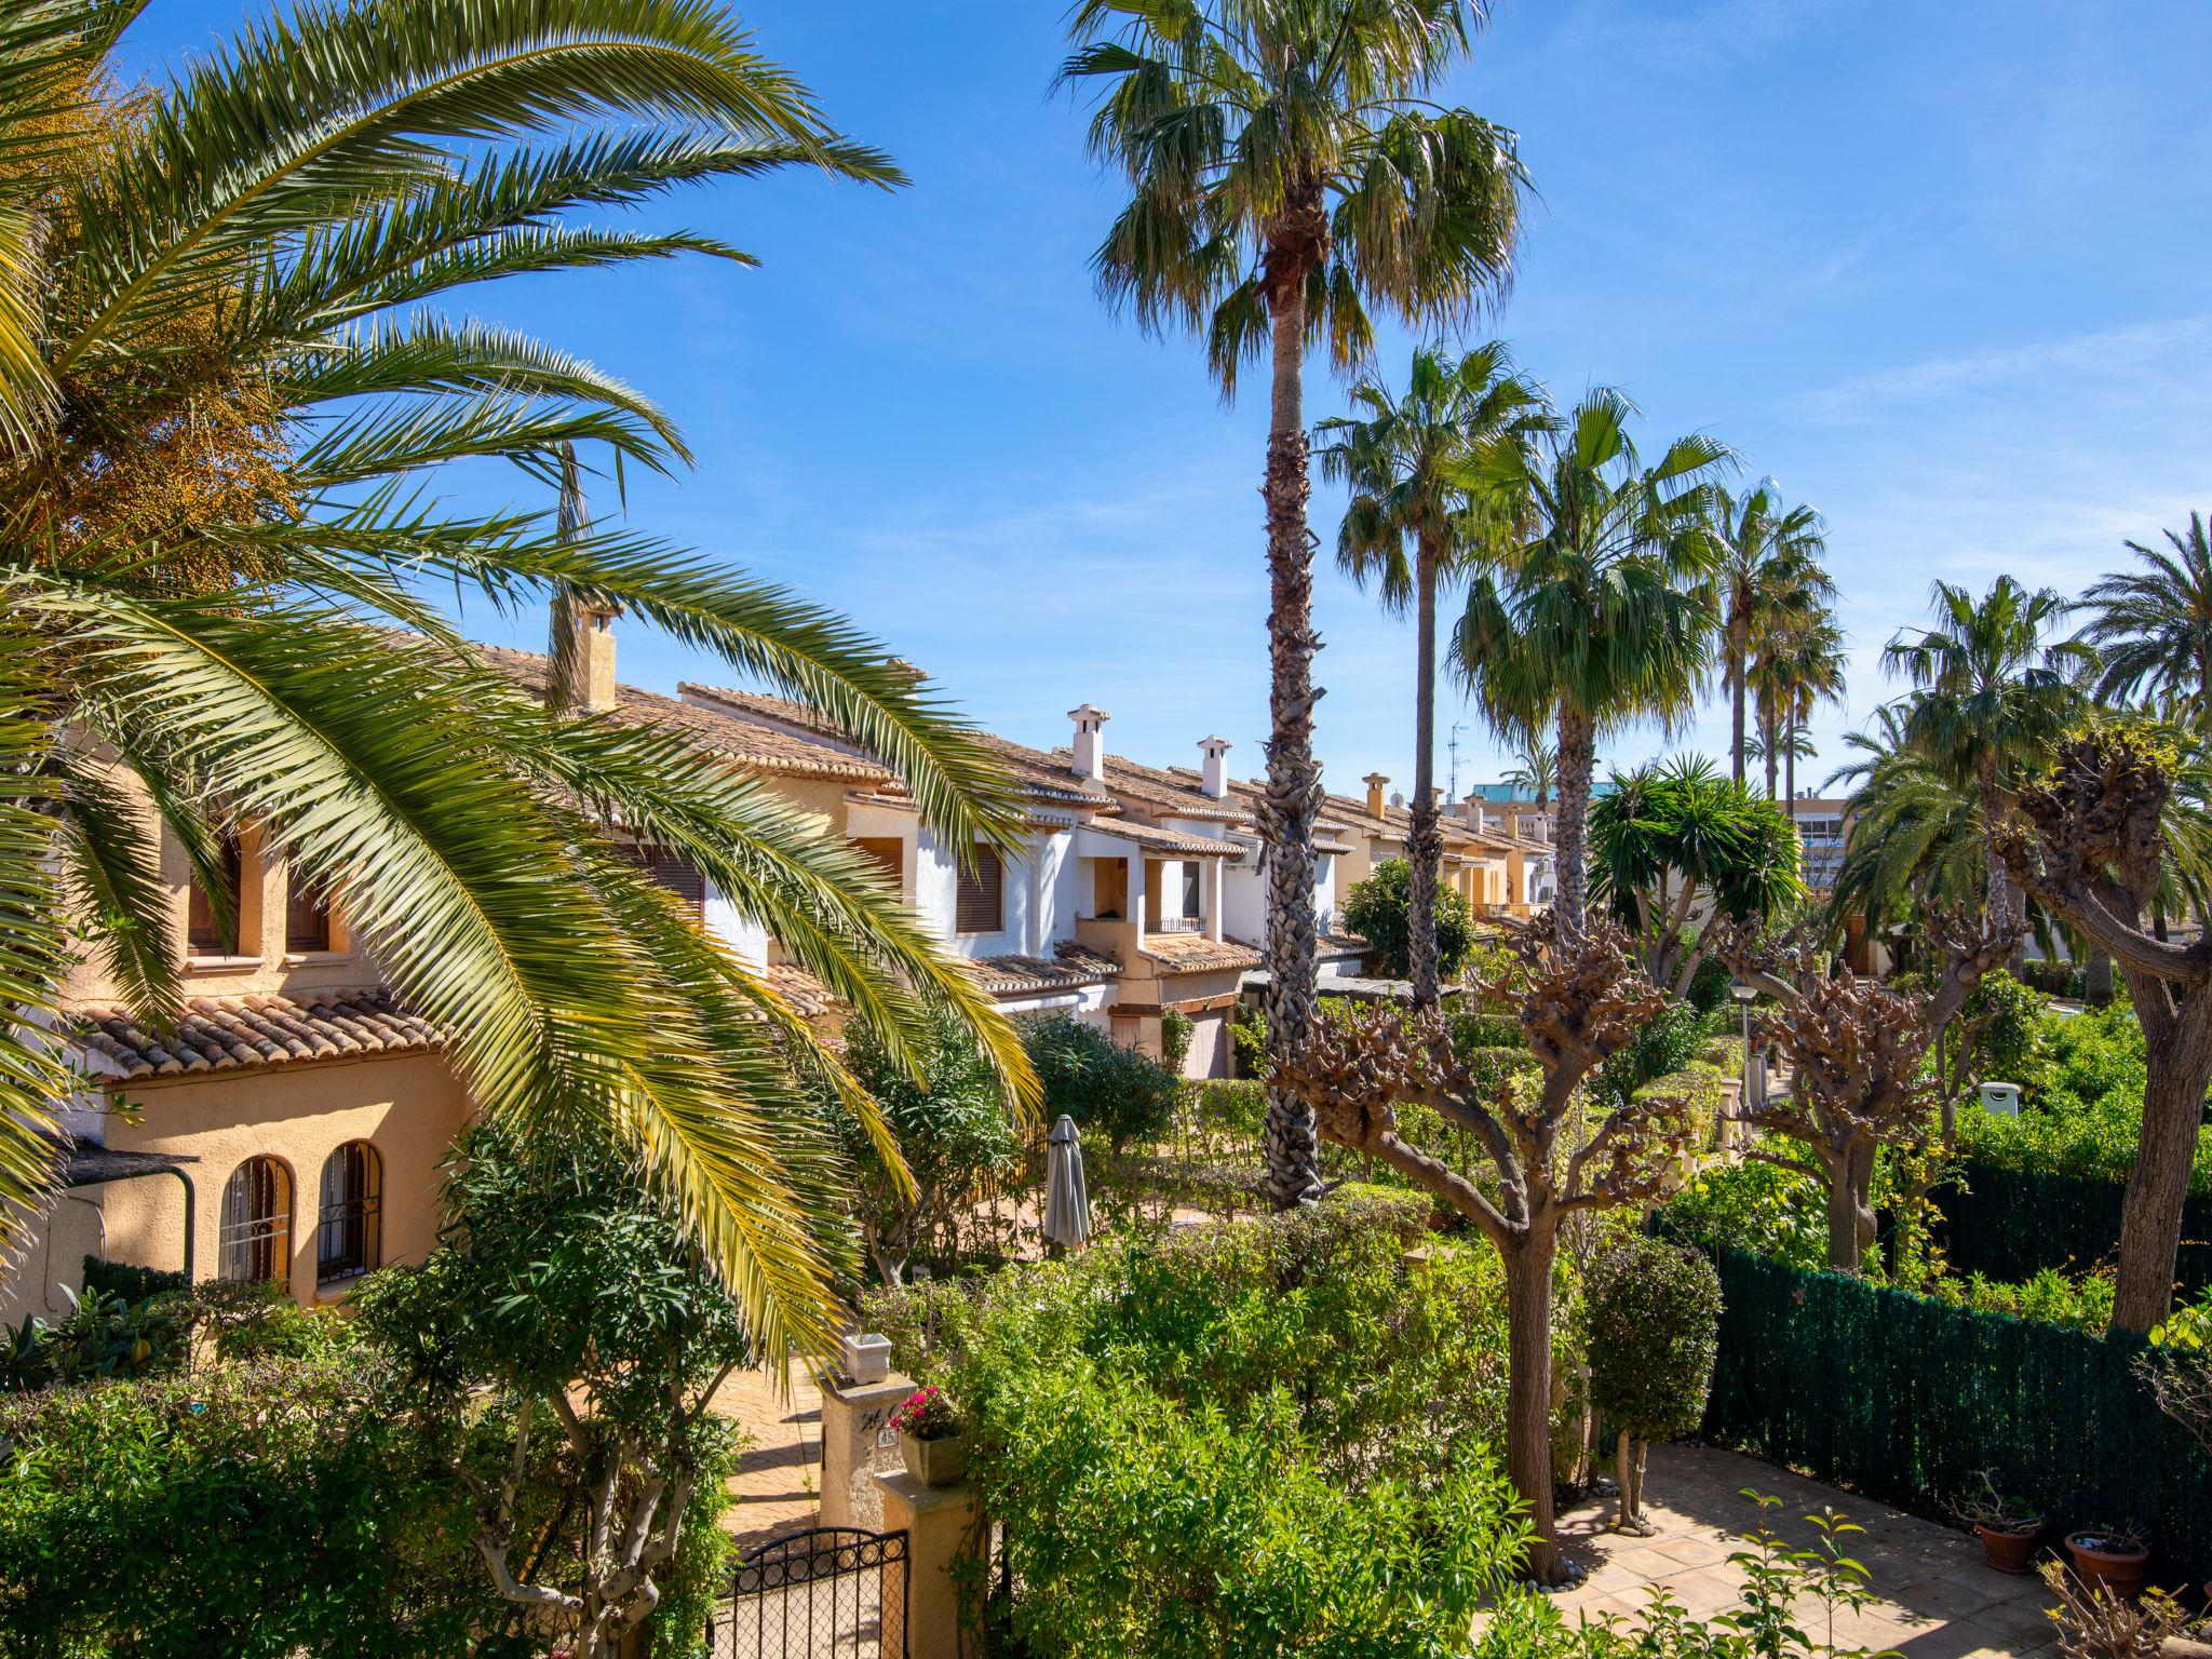
<path fill-rule="evenodd" d="M 2150 732 L 2106 723 L 2068 739 L 2000 832 L 2013 880 L 2106 951 L 2143 1026 L 2143 1128 L 2119 1212 L 2112 1329 L 2172 1310 L 2181 1208 L 2212 1086 L 2212 933 L 2168 942 L 2143 927 L 2166 858 L 2170 757 Z"/>

